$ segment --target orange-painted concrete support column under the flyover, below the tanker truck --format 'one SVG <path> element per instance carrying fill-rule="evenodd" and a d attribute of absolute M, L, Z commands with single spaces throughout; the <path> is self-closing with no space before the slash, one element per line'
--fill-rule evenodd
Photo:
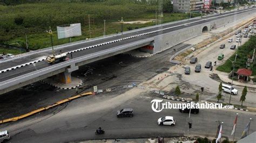
<path fill-rule="evenodd" d="M 71 78 L 71 73 L 72 71 L 78 70 L 78 66 L 75 65 L 75 63 L 73 63 L 72 65 L 70 65 L 69 68 L 66 68 L 66 71 L 63 73 L 59 74 L 59 82 L 61 83 L 71 83 L 72 82 L 72 78 Z"/>

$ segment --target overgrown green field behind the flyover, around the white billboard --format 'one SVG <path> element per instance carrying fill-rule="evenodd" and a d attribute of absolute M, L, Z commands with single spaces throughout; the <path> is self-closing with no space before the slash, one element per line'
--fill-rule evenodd
<path fill-rule="evenodd" d="M 106 19 L 106 34 L 121 31 L 118 20 L 124 22 L 136 20 L 153 20 L 156 18 L 156 5 L 146 4 L 113 4 L 113 3 L 40 3 L 21 4 L 15 6 L 0 5 L 0 42 L 12 44 L 18 42 L 25 47 L 25 28 L 28 35 L 29 48 L 32 50 L 50 47 L 50 35 L 45 31 L 52 27 L 53 45 L 69 42 L 69 39 L 57 39 L 56 26 L 71 23 L 81 23 L 82 36 L 71 41 L 90 38 L 88 15 L 91 18 L 91 38 L 103 36 L 104 19 Z M 158 12 L 159 13 L 159 12 Z M 200 16 L 193 14 L 192 17 Z M 188 18 L 186 13 L 164 13 L 163 23 L 174 22 Z M 161 23 L 158 15 L 158 24 Z M 124 24 L 123 31 L 155 25 Z M 1 48 L 2 51 L 5 49 Z M 7 52 L 7 51 L 6 51 Z"/>

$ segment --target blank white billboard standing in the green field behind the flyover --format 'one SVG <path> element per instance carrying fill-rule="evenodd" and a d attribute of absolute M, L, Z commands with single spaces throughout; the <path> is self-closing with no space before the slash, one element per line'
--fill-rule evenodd
<path fill-rule="evenodd" d="M 58 39 L 70 38 L 82 35 L 81 24 L 75 23 L 70 25 L 57 26 Z"/>

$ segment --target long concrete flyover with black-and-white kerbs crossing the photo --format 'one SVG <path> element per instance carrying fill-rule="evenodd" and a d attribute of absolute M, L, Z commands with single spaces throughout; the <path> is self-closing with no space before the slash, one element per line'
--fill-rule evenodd
<path fill-rule="evenodd" d="M 56 46 L 56 51 L 61 49 L 72 59 L 55 65 L 44 61 L 51 54 L 51 48 L 29 52 L 0 63 L 0 94 L 59 73 L 64 73 L 64 77 L 71 76 L 71 72 L 79 66 L 142 46 L 152 45 L 152 53 L 159 53 L 211 28 L 218 28 L 244 17 L 253 17 L 255 11 L 255 8 L 250 8 L 205 18 L 181 20 L 163 24 L 163 27 L 151 26 L 124 34 Z"/>

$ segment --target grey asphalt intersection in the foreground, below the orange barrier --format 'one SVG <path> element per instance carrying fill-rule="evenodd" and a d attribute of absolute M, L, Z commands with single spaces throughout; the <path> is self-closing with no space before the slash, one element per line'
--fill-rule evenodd
<path fill-rule="evenodd" d="M 139 94 L 134 94 L 138 92 Z M 114 94 L 114 93 L 113 93 Z M 27 119 L 6 126 L 12 135 L 11 142 L 66 142 L 90 139 L 118 138 L 150 138 L 178 137 L 187 134 L 187 113 L 178 109 L 166 109 L 159 113 L 151 109 L 151 100 L 161 99 L 159 95 L 132 89 L 123 95 L 96 95 L 69 103 L 55 115 L 45 115 L 37 119 Z M 164 100 L 167 101 L 167 100 Z M 172 103 L 177 103 L 173 102 Z M 117 118 L 116 112 L 122 108 L 133 108 L 134 117 Z M 223 121 L 223 137 L 231 138 L 235 110 L 200 110 L 198 115 L 191 115 L 192 128 L 190 134 L 214 136 L 217 131 L 215 121 Z M 237 133 L 241 137 L 242 130 L 253 118 L 250 132 L 256 131 L 255 113 L 239 112 Z M 175 126 L 159 126 L 157 119 L 163 116 L 173 116 Z M 47 117 L 47 118 L 46 118 Z M 44 119 L 43 119 L 44 118 Z M 95 135 L 95 130 L 101 126 L 103 135 Z M 19 128 L 17 130 L 17 128 Z"/>

